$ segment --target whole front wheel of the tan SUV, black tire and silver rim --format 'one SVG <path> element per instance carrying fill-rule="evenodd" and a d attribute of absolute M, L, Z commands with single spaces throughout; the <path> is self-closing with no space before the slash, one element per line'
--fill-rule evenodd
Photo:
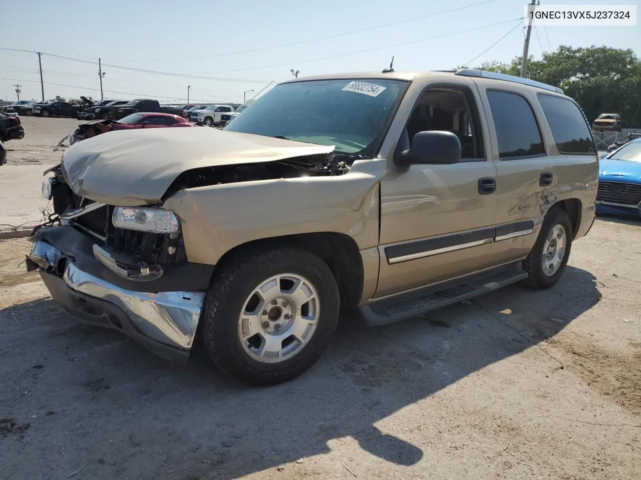
<path fill-rule="evenodd" d="M 277 280 L 279 276 L 282 278 Z M 301 279 L 298 285 L 303 289 L 296 283 L 288 284 L 292 276 Z M 267 289 L 265 285 L 272 282 L 276 283 Z M 288 296 L 283 289 L 312 292 L 312 296 L 304 297 L 310 301 L 301 304 L 291 301 L 301 300 L 300 296 Z M 259 290 L 263 300 L 256 295 Z M 210 359 L 232 378 L 250 385 L 274 385 L 296 378 L 314 364 L 336 330 L 339 303 L 331 270 L 313 253 L 274 248 L 237 255 L 221 267 L 212 282 L 201 319 L 201 341 Z M 253 322 L 242 319 L 247 308 L 256 312 Z M 274 310 L 278 311 L 272 316 Z M 292 312 L 290 320 L 283 312 Z M 304 312 L 315 320 L 306 321 Z M 282 327 L 279 321 L 283 321 Z M 297 334 L 299 337 L 287 336 L 296 330 L 304 331 Z M 268 342 L 272 347 L 278 345 L 277 356 L 266 349 Z"/>

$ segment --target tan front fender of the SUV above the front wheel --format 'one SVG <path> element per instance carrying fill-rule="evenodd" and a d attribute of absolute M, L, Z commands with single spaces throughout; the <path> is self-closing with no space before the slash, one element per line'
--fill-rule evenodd
<path fill-rule="evenodd" d="M 345 175 L 257 180 L 183 189 L 164 208 L 181 220 L 187 259 L 216 264 L 232 248 L 270 237 L 337 232 L 363 250 L 378 244 L 384 159 Z"/>

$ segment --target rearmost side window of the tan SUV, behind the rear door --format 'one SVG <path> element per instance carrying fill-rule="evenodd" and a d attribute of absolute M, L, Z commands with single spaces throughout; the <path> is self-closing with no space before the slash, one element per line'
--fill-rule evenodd
<path fill-rule="evenodd" d="M 554 95 L 537 94 L 556 148 L 562 154 L 594 155 L 592 133 L 574 102 Z"/>

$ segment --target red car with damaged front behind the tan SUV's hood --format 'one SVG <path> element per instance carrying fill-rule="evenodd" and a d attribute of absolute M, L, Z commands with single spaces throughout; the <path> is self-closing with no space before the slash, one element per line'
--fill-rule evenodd
<path fill-rule="evenodd" d="M 76 141 L 92 138 L 101 133 L 114 130 L 135 130 L 142 128 L 160 127 L 196 127 L 187 118 L 171 113 L 132 113 L 120 120 L 91 120 L 78 125 L 78 128 L 69 136 L 69 144 Z"/>

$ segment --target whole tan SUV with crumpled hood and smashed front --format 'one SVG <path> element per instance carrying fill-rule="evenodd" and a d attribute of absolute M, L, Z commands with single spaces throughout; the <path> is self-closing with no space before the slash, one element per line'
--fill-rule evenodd
<path fill-rule="evenodd" d="M 295 79 L 224 131 L 110 132 L 47 175 L 58 216 L 27 263 L 56 302 L 265 385 L 317 360 L 339 310 L 379 325 L 554 285 L 598 160 L 558 88 L 459 70 Z"/>

